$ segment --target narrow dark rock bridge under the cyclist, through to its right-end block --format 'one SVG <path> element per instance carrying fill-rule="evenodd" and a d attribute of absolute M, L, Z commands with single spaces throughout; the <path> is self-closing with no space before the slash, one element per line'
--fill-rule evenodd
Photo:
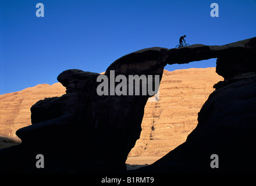
<path fill-rule="evenodd" d="M 255 70 L 255 45 L 256 37 L 221 46 L 194 44 L 190 47 L 169 49 L 169 55 L 166 61 L 169 65 L 172 65 L 175 63 L 183 64 L 191 61 L 219 58 L 217 60 L 216 72 L 226 77 L 229 74 L 233 75 Z M 240 67 L 243 68 L 240 69 Z M 250 69 L 250 67 L 253 67 L 253 69 Z"/>

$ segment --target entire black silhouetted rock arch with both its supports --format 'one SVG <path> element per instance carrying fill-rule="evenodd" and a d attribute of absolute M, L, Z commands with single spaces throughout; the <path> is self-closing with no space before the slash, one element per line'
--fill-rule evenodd
<path fill-rule="evenodd" d="M 255 109 L 252 109 L 252 105 L 254 106 L 255 103 L 254 84 L 250 84 L 254 81 L 254 75 L 250 79 L 244 79 L 244 81 L 250 81 L 247 84 L 250 88 L 246 87 L 249 88 L 249 91 L 244 91 L 241 88 L 246 82 L 243 81 L 242 84 L 234 87 L 232 82 L 237 80 L 237 76 L 247 77 L 254 73 L 255 49 L 255 38 L 223 46 L 191 45 L 179 49 L 155 47 L 123 56 L 106 69 L 105 75 L 108 79 L 111 79 L 111 70 L 115 70 L 115 77 L 118 75 L 128 77 L 134 74 L 146 77 L 159 75 L 161 80 L 163 67 L 167 64 L 219 58 L 216 69 L 219 74 L 222 74 L 220 73 L 222 66 L 219 67 L 219 63 L 223 63 L 222 59 L 245 53 L 249 56 L 241 58 L 247 60 L 246 63 L 241 62 L 241 66 L 244 66 L 246 71 L 236 69 L 230 70 L 232 72 L 229 71 L 227 74 L 224 72 L 225 81 L 217 85 L 219 94 L 213 93 L 217 95 L 216 100 L 219 101 L 219 104 L 212 100 L 214 95 L 209 96 L 200 111 L 198 126 L 187 139 L 190 142 L 185 142 L 170 152 L 170 155 L 166 155 L 163 159 L 141 171 L 209 170 L 209 168 L 205 168 L 209 167 L 209 163 L 205 164 L 209 159 L 209 156 L 206 155 L 214 152 L 225 157 L 226 149 L 235 152 L 237 135 L 245 137 L 247 141 L 239 155 L 242 155 L 243 152 L 251 152 L 249 147 L 253 144 L 248 140 L 255 141 L 254 137 L 249 135 L 253 129 L 253 123 L 247 126 L 251 120 L 244 119 L 247 113 L 249 113 L 249 119 L 255 117 Z M 241 53 L 239 53 L 240 51 Z M 113 90 L 110 88 L 105 91 L 108 95 L 98 95 L 97 88 L 101 84 L 97 81 L 98 77 L 99 74 L 76 69 L 63 71 L 58 76 L 58 80 L 66 87 L 66 94 L 35 103 L 31 108 L 32 125 L 16 132 L 17 136 L 22 139 L 22 144 L 0 151 L 0 167 L 2 169 L 0 172 L 86 173 L 125 170 L 127 155 L 140 137 L 144 106 L 150 95 L 112 95 Z M 155 84 L 155 80 L 151 84 Z M 116 85 L 115 83 L 114 85 Z M 111 87 L 111 84 L 113 85 L 109 82 L 108 85 Z M 229 92 L 229 90 L 222 89 L 225 87 L 234 89 Z M 129 87 L 126 88 L 128 90 Z M 236 95 L 236 93 L 241 90 L 244 91 L 244 94 L 241 93 L 240 97 L 240 94 Z M 239 98 L 240 102 L 235 102 L 232 98 Z M 243 102 L 245 100 L 246 102 Z M 247 102 L 247 100 L 249 101 Z M 228 104 L 226 105 L 225 102 Z M 240 105 L 236 103 L 241 102 L 243 104 L 239 108 Z M 230 106 L 233 103 L 235 106 Z M 218 113 L 225 109 L 224 113 L 227 115 L 219 117 L 222 115 L 218 115 Z M 238 110 L 240 113 L 244 109 L 246 112 L 243 117 L 238 116 L 235 112 Z M 80 129 L 79 133 L 77 133 L 77 128 Z M 70 140 L 66 140 L 67 137 Z M 86 148 L 83 148 L 84 146 Z M 212 148 L 209 149 L 207 146 Z M 204 148 L 208 150 L 202 150 Z M 39 153 L 44 155 L 45 159 L 47 157 L 44 169 L 35 167 L 35 155 Z M 198 156 L 200 158 L 195 159 L 197 155 L 200 155 Z M 231 154 L 227 153 L 227 155 Z M 244 156 L 242 157 L 244 158 Z M 224 159 L 228 160 L 228 157 L 226 156 Z M 199 166 L 195 167 L 194 162 L 199 162 Z M 251 155 L 248 156 L 246 162 L 255 165 L 255 160 Z M 224 167 L 223 171 L 233 170 L 231 162 Z"/>

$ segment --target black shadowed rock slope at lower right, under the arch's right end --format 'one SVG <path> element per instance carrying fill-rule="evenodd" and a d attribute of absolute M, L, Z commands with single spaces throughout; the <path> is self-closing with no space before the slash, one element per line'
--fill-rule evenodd
<path fill-rule="evenodd" d="M 186 142 L 138 172 L 255 173 L 255 85 L 255 72 L 216 84 Z M 218 155 L 218 169 L 211 155 Z"/>

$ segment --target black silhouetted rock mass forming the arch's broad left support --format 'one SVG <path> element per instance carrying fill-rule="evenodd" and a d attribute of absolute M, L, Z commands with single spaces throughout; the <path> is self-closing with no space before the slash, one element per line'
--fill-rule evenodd
<path fill-rule="evenodd" d="M 129 64 L 126 73 L 122 74 L 137 74 L 140 63 L 148 62 L 153 67 L 148 71 L 145 67 L 141 73 L 162 76 L 164 66 L 158 67 L 158 63 L 162 62 L 157 60 L 161 60 L 158 56 L 161 51 L 153 49 L 153 53 L 152 61 L 145 60 L 144 57 L 140 60 L 136 56 L 134 61 L 131 58 L 119 59 L 124 63 L 123 66 Z M 136 55 L 144 55 L 144 52 Z M 117 76 L 118 70 L 115 73 Z M 109 76 L 109 70 L 105 74 Z M 67 94 L 46 98 L 31 107 L 32 125 L 17 130 L 16 134 L 22 139 L 22 145 L 1 153 L 6 159 L 1 162 L 1 167 L 6 166 L 7 172 L 23 173 L 126 170 L 127 155 L 140 138 L 144 106 L 149 96 L 99 96 L 98 76 L 97 73 L 76 69 L 63 71 L 58 80 L 65 85 Z M 13 157 L 12 151 L 22 153 Z M 35 167 L 37 154 L 42 154 L 47 159 L 42 170 Z M 19 162 L 17 169 L 9 166 L 14 162 L 10 163 L 8 159 Z"/>

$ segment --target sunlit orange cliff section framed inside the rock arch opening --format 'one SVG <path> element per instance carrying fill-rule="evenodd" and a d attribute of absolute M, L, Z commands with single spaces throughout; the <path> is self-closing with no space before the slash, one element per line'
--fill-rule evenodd
<path fill-rule="evenodd" d="M 197 113 L 223 80 L 215 68 L 163 71 L 158 102 L 147 102 L 140 139 L 129 156 L 164 156 L 186 141 Z"/>

